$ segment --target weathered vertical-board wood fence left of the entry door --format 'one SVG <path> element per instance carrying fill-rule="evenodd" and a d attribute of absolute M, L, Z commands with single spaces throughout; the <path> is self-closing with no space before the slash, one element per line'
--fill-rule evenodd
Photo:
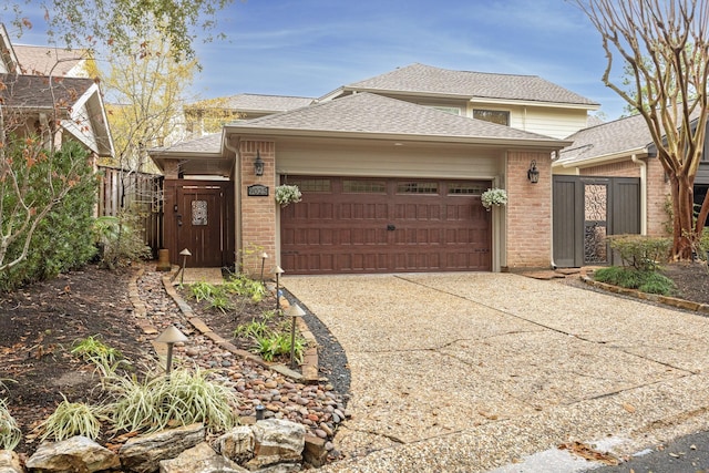
<path fill-rule="evenodd" d="M 163 176 L 99 166 L 99 216 L 117 216 L 122 209 L 137 210 L 143 237 L 153 256 L 163 247 Z"/>

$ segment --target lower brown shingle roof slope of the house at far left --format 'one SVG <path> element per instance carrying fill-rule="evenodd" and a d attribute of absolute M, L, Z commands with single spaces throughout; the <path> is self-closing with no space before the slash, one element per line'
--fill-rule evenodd
<path fill-rule="evenodd" d="M 66 107 L 76 102 L 94 83 L 83 78 L 49 78 L 40 75 L 0 74 L 4 89 L 2 104 L 14 109 Z"/>

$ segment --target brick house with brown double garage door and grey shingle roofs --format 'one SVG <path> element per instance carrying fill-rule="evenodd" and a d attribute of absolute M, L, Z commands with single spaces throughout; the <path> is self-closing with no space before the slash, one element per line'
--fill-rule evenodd
<path fill-rule="evenodd" d="M 536 76 L 401 68 L 152 150 L 165 247 L 251 270 L 265 250 L 288 274 L 549 267 L 552 157 L 597 109 Z M 275 203 L 284 183 L 301 203 Z M 485 210 L 491 187 L 506 207 Z"/>

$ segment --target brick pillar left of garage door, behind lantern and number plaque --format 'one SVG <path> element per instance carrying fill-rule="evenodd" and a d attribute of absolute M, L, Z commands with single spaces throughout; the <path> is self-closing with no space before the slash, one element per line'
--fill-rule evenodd
<path fill-rule="evenodd" d="M 264 175 L 254 172 L 256 152 L 264 161 Z M 266 251 L 266 274 L 273 274 L 276 266 L 276 144 L 273 142 L 242 142 L 239 145 L 242 188 L 242 248 L 238 258 L 247 274 L 259 274 L 261 253 Z M 269 187 L 269 195 L 248 196 L 248 186 L 260 184 Z"/>

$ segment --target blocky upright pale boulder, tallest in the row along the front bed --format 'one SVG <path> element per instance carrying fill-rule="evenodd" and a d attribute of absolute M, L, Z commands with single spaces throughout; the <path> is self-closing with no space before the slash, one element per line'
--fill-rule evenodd
<path fill-rule="evenodd" d="M 279 419 L 267 419 L 251 426 L 256 445 L 254 459 L 245 466 L 258 470 L 278 463 L 296 463 L 302 457 L 306 428 L 301 424 Z"/>

